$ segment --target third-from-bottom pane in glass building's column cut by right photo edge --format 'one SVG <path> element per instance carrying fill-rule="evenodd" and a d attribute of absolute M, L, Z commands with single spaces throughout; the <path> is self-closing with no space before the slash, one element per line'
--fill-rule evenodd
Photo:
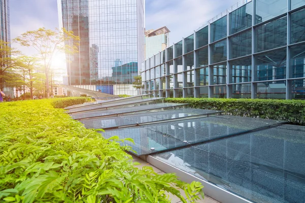
<path fill-rule="evenodd" d="M 305 41 L 305 9 L 291 14 L 290 17 L 290 44 Z"/>

